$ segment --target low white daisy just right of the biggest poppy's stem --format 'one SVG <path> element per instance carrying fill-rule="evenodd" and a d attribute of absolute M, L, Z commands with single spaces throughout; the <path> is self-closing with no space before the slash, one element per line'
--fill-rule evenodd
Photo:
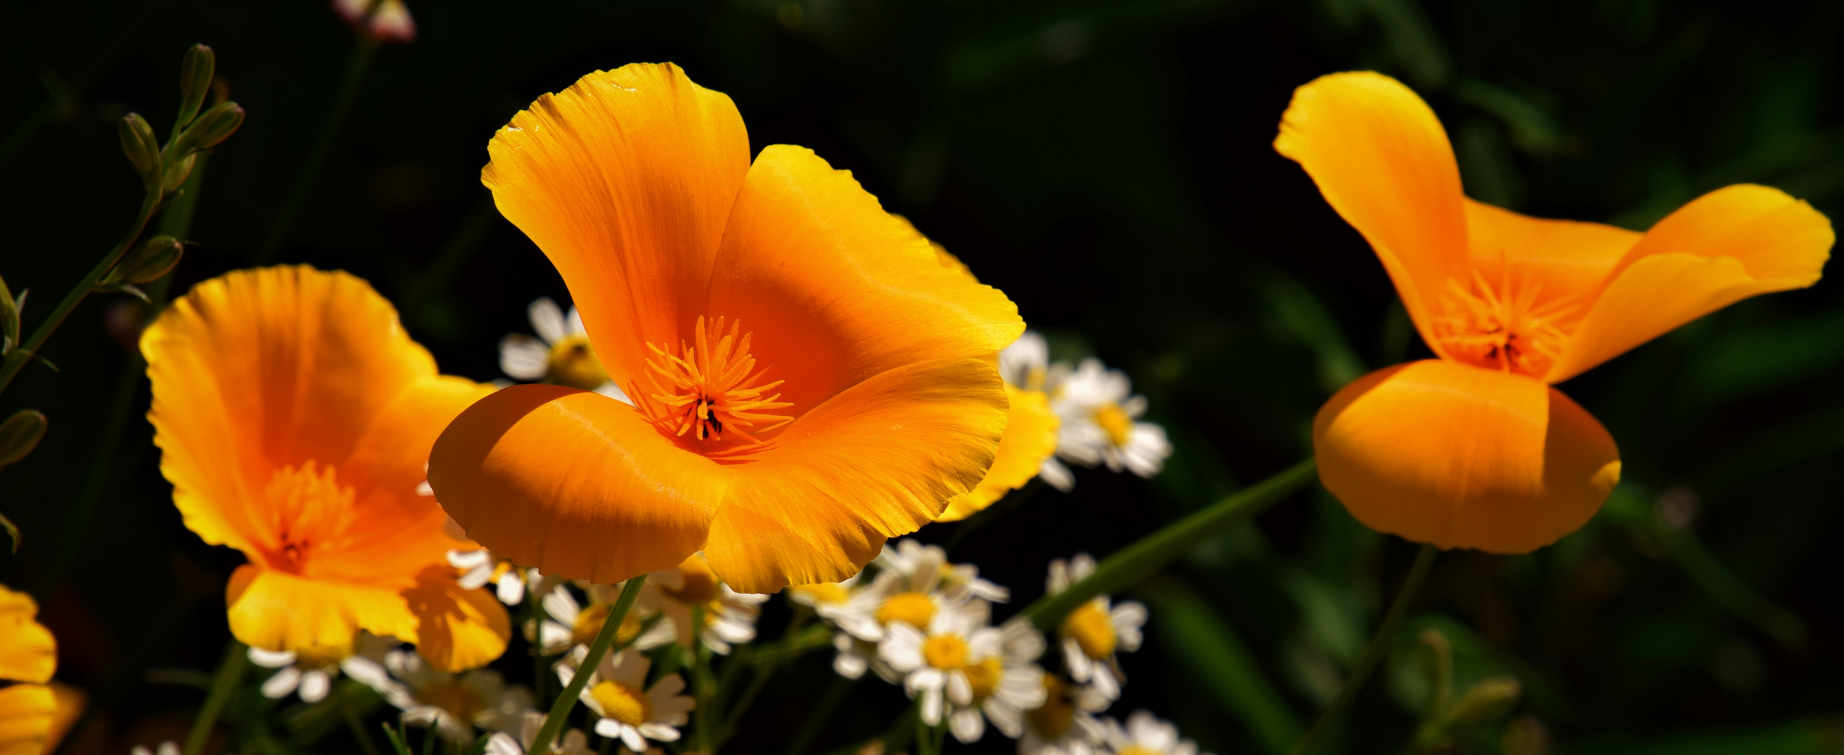
<path fill-rule="evenodd" d="M 557 678 L 568 687 L 575 678 L 575 667 L 588 656 L 588 648 L 572 650 L 570 663 L 557 665 Z M 686 689 L 684 678 L 666 674 L 647 689 L 647 670 L 653 661 L 634 648 L 601 657 L 594 676 L 583 687 L 583 703 L 596 711 L 596 733 L 607 738 L 620 738 L 627 749 L 647 751 L 647 740 L 677 742 L 679 729 L 692 713 L 692 698 L 679 694 Z"/>

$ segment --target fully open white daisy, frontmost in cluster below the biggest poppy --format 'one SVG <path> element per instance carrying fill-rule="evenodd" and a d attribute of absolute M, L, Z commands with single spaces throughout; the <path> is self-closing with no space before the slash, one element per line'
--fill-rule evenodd
<path fill-rule="evenodd" d="M 1003 632 L 987 626 L 992 610 L 985 600 L 968 600 L 935 611 L 928 628 L 891 622 L 878 656 L 904 674 L 904 691 L 922 696 L 922 722 L 939 726 L 946 703 L 974 703 L 974 674 L 968 672 L 987 657 L 1001 656 Z"/>

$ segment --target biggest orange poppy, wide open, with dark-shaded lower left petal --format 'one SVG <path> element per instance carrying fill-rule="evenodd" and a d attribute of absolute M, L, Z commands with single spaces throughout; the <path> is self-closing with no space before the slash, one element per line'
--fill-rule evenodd
<path fill-rule="evenodd" d="M 1023 331 L 1003 293 L 811 151 L 749 160 L 730 98 L 673 64 L 513 116 L 481 173 L 550 256 L 634 405 L 514 385 L 435 442 L 481 545 L 620 582 L 704 551 L 741 593 L 837 582 L 992 466 Z"/>

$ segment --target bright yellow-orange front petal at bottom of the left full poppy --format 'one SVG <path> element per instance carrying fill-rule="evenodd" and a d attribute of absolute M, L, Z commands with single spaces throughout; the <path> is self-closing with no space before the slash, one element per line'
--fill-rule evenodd
<path fill-rule="evenodd" d="M 225 602 L 230 633 L 253 648 L 350 645 L 358 630 L 417 635 L 417 617 L 393 586 L 310 580 L 245 563 L 230 573 Z"/>

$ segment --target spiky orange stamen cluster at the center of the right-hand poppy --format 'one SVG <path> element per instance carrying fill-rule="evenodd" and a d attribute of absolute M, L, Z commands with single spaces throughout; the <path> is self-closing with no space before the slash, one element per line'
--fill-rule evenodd
<path fill-rule="evenodd" d="M 1542 378 L 1562 355 L 1569 339 L 1564 319 L 1575 311 L 1567 298 L 1540 300 L 1538 285 L 1497 287 L 1473 271 L 1472 289 L 1448 278 L 1444 315 L 1435 319 L 1435 339 L 1459 361 L 1475 366 Z"/>

